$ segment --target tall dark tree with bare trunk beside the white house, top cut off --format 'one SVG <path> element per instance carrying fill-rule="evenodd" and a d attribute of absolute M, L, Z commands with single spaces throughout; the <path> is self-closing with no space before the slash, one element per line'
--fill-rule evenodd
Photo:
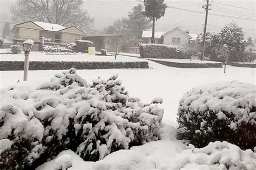
<path fill-rule="evenodd" d="M 167 5 L 164 0 L 144 0 L 145 11 L 143 14 L 152 21 L 151 43 L 154 43 L 154 26 L 155 22 L 165 15 Z"/>

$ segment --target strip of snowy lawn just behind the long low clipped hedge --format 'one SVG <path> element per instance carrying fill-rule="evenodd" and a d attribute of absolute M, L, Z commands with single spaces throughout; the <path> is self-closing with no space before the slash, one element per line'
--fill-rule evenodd
<path fill-rule="evenodd" d="M 1 61 L 24 61 L 24 53 L 21 54 L 3 54 L 0 55 Z M 70 62 L 139 62 L 144 59 L 128 56 L 90 56 L 86 53 L 77 53 L 77 55 L 46 55 L 44 52 L 30 52 L 30 61 L 70 61 Z"/>

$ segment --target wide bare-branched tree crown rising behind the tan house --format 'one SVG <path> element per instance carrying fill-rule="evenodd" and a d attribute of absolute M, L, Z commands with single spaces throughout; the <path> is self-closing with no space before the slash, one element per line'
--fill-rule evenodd
<path fill-rule="evenodd" d="M 16 22 L 41 21 L 87 30 L 94 22 L 83 0 L 17 0 L 10 8 Z"/>

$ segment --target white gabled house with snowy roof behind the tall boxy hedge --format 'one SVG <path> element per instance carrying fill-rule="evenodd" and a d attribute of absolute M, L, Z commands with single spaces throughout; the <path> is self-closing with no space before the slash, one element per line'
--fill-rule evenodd
<path fill-rule="evenodd" d="M 143 31 L 143 43 L 151 43 L 152 31 Z M 155 43 L 166 45 L 183 45 L 195 41 L 196 35 L 190 34 L 188 31 L 183 31 L 180 28 L 174 28 L 167 32 L 155 32 Z"/>

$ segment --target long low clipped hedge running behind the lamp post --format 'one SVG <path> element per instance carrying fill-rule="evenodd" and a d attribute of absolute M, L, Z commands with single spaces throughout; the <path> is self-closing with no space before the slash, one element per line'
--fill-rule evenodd
<path fill-rule="evenodd" d="M 77 69 L 149 69 L 147 62 L 29 62 L 29 70 Z M 23 70 L 24 62 L 1 61 L 0 71 Z"/>

